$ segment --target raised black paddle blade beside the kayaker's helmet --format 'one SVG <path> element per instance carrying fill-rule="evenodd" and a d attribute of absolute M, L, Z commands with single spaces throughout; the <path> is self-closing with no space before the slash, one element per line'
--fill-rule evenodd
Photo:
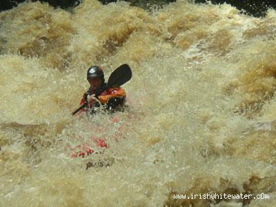
<path fill-rule="evenodd" d="M 129 81 L 132 72 L 128 64 L 123 64 L 114 70 L 108 79 L 108 88 L 118 87 Z"/>

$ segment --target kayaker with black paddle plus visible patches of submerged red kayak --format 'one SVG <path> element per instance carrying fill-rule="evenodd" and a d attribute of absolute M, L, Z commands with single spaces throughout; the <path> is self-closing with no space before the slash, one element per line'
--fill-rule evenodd
<path fill-rule="evenodd" d="M 132 71 L 128 64 L 122 64 L 116 68 L 105 82 L 103 70 L 99 66 L 92 66 L 88 68 L 87 80 L 90 83 L 90 88 L 83 94 L 81 99 L 81 106 L 72 112 L 72 116 L 76 115 L 79 111 L 85 111 L 86 114 L 95 113 L 104 106 L 105 110 L 114 112 L 115 110 L 124 110 L 126 102 L 126 92 L 120 88 L 124 83 L 128 82 L 132 77 Z M 112 119 L 112 122 L 117 122 L 117 119 Z M 121 126 L 118 128 L 120 131 Z M 91 141 L 97 143 L 99 148 L 109 148 L 106 144 L 104 137 L 90 137 Z M 72 158 L 86 157 L 92 154 L 94 150 L 90 148 L 90 143 L 79 144 L 77 146 L 70 146 L 70 154 Z M 87 165 L 89 167 L 93 164 Z"/>

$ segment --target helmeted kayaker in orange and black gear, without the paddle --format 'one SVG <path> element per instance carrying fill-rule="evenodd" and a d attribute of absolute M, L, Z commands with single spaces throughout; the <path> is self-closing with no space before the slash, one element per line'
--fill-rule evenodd
<path fill-rule="evenodd" d="M 91 66 L 88 68 L 87 80 L 90 83 L 90 88 L 83 94 L 80 104 L 88 104 L 82 111 L 94 114 L 99 111 L 100 106 L 110 112 L 124 110 L 126 102 L 125 90 L 120 87 L 108 88 L 101 67 Z"/>

